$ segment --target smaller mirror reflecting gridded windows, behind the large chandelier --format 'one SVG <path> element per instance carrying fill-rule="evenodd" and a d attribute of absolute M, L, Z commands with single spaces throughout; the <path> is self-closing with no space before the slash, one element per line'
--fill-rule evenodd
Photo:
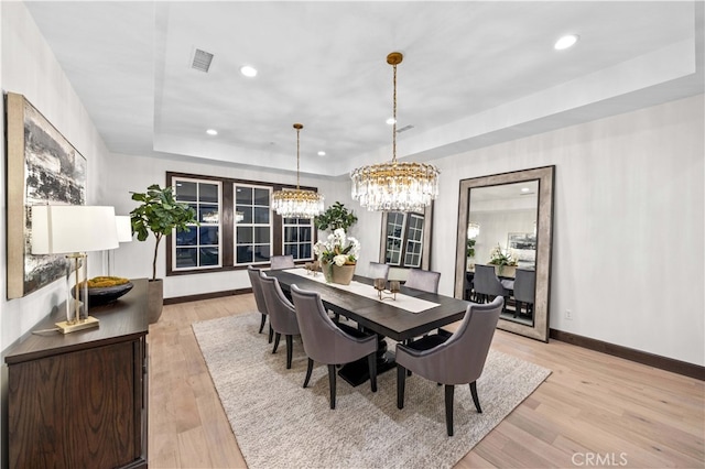
<path fill-rule="evenodd" d="M 406 280 L 408 269 L 429 270 L 432 214 L 433 205 L 423 214 L 382 214 L 379 261 L 390 265 L 390 280 Z"/>

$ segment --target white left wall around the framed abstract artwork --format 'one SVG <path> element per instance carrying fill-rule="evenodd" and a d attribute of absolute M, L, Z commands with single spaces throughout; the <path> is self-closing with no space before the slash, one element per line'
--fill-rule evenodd
<path fill-rule="evenodd" d="M 3 92 L 17 92 L 32 105 L 83 154 L 88 163 L 87 204 L 100 204 L 102 187 L 98 184 L 101 162 L 108 151 L 98 135 L 86 109 L 66 79 L 54 54 L 40 34 L 32 17 L 21 2 L 0 2 L 2 12 L 2 68 L 0 85 Z M 4 129 L 4 126 L 3 126 Z M 3 130 L 4 141 L 4 130 Z M 4 145 L 3 151 L 4 151 Z M 6 175 L 2 165 L 2 194 Z M 2 197 L 0 246 L 6 246 L 7 200 Z M 65 282 L 57 281 L 23 298 L 7 301 L 7 252 L 0 255 L 0 350 L 29 331 L 52 307 L 66 298 Z M 90 255 L 89 274 L 102 270 L 100 255 Z"/>

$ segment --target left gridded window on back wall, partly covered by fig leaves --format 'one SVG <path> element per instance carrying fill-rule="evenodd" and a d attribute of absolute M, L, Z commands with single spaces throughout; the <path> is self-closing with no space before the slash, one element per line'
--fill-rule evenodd
<path fill-rule="evenodd" d="M 199 222 L 176 233 L 174 270 L 220 266 L 220 184 L 176 177 L 173 185 L 176 200 L 188 204 Z"/>

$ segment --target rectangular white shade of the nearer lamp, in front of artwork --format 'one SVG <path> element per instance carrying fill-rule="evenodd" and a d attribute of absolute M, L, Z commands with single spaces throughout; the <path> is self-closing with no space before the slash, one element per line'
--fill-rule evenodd
<path fill-rule="evenodd" d="M 32 207 L 32 253 L 66 254 L 118 247 L 115 208 L 85 205 Z"/>

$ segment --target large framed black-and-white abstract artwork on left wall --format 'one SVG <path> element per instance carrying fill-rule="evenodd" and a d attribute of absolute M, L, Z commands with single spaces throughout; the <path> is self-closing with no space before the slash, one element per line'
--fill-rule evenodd
<path fill-rule="evenodd" d="M 6 95 L 8 299 L 67 274 L 63 255 L 32 255 L 31 207 L 84 205 L 86 159 L 22 95 Z"/>

